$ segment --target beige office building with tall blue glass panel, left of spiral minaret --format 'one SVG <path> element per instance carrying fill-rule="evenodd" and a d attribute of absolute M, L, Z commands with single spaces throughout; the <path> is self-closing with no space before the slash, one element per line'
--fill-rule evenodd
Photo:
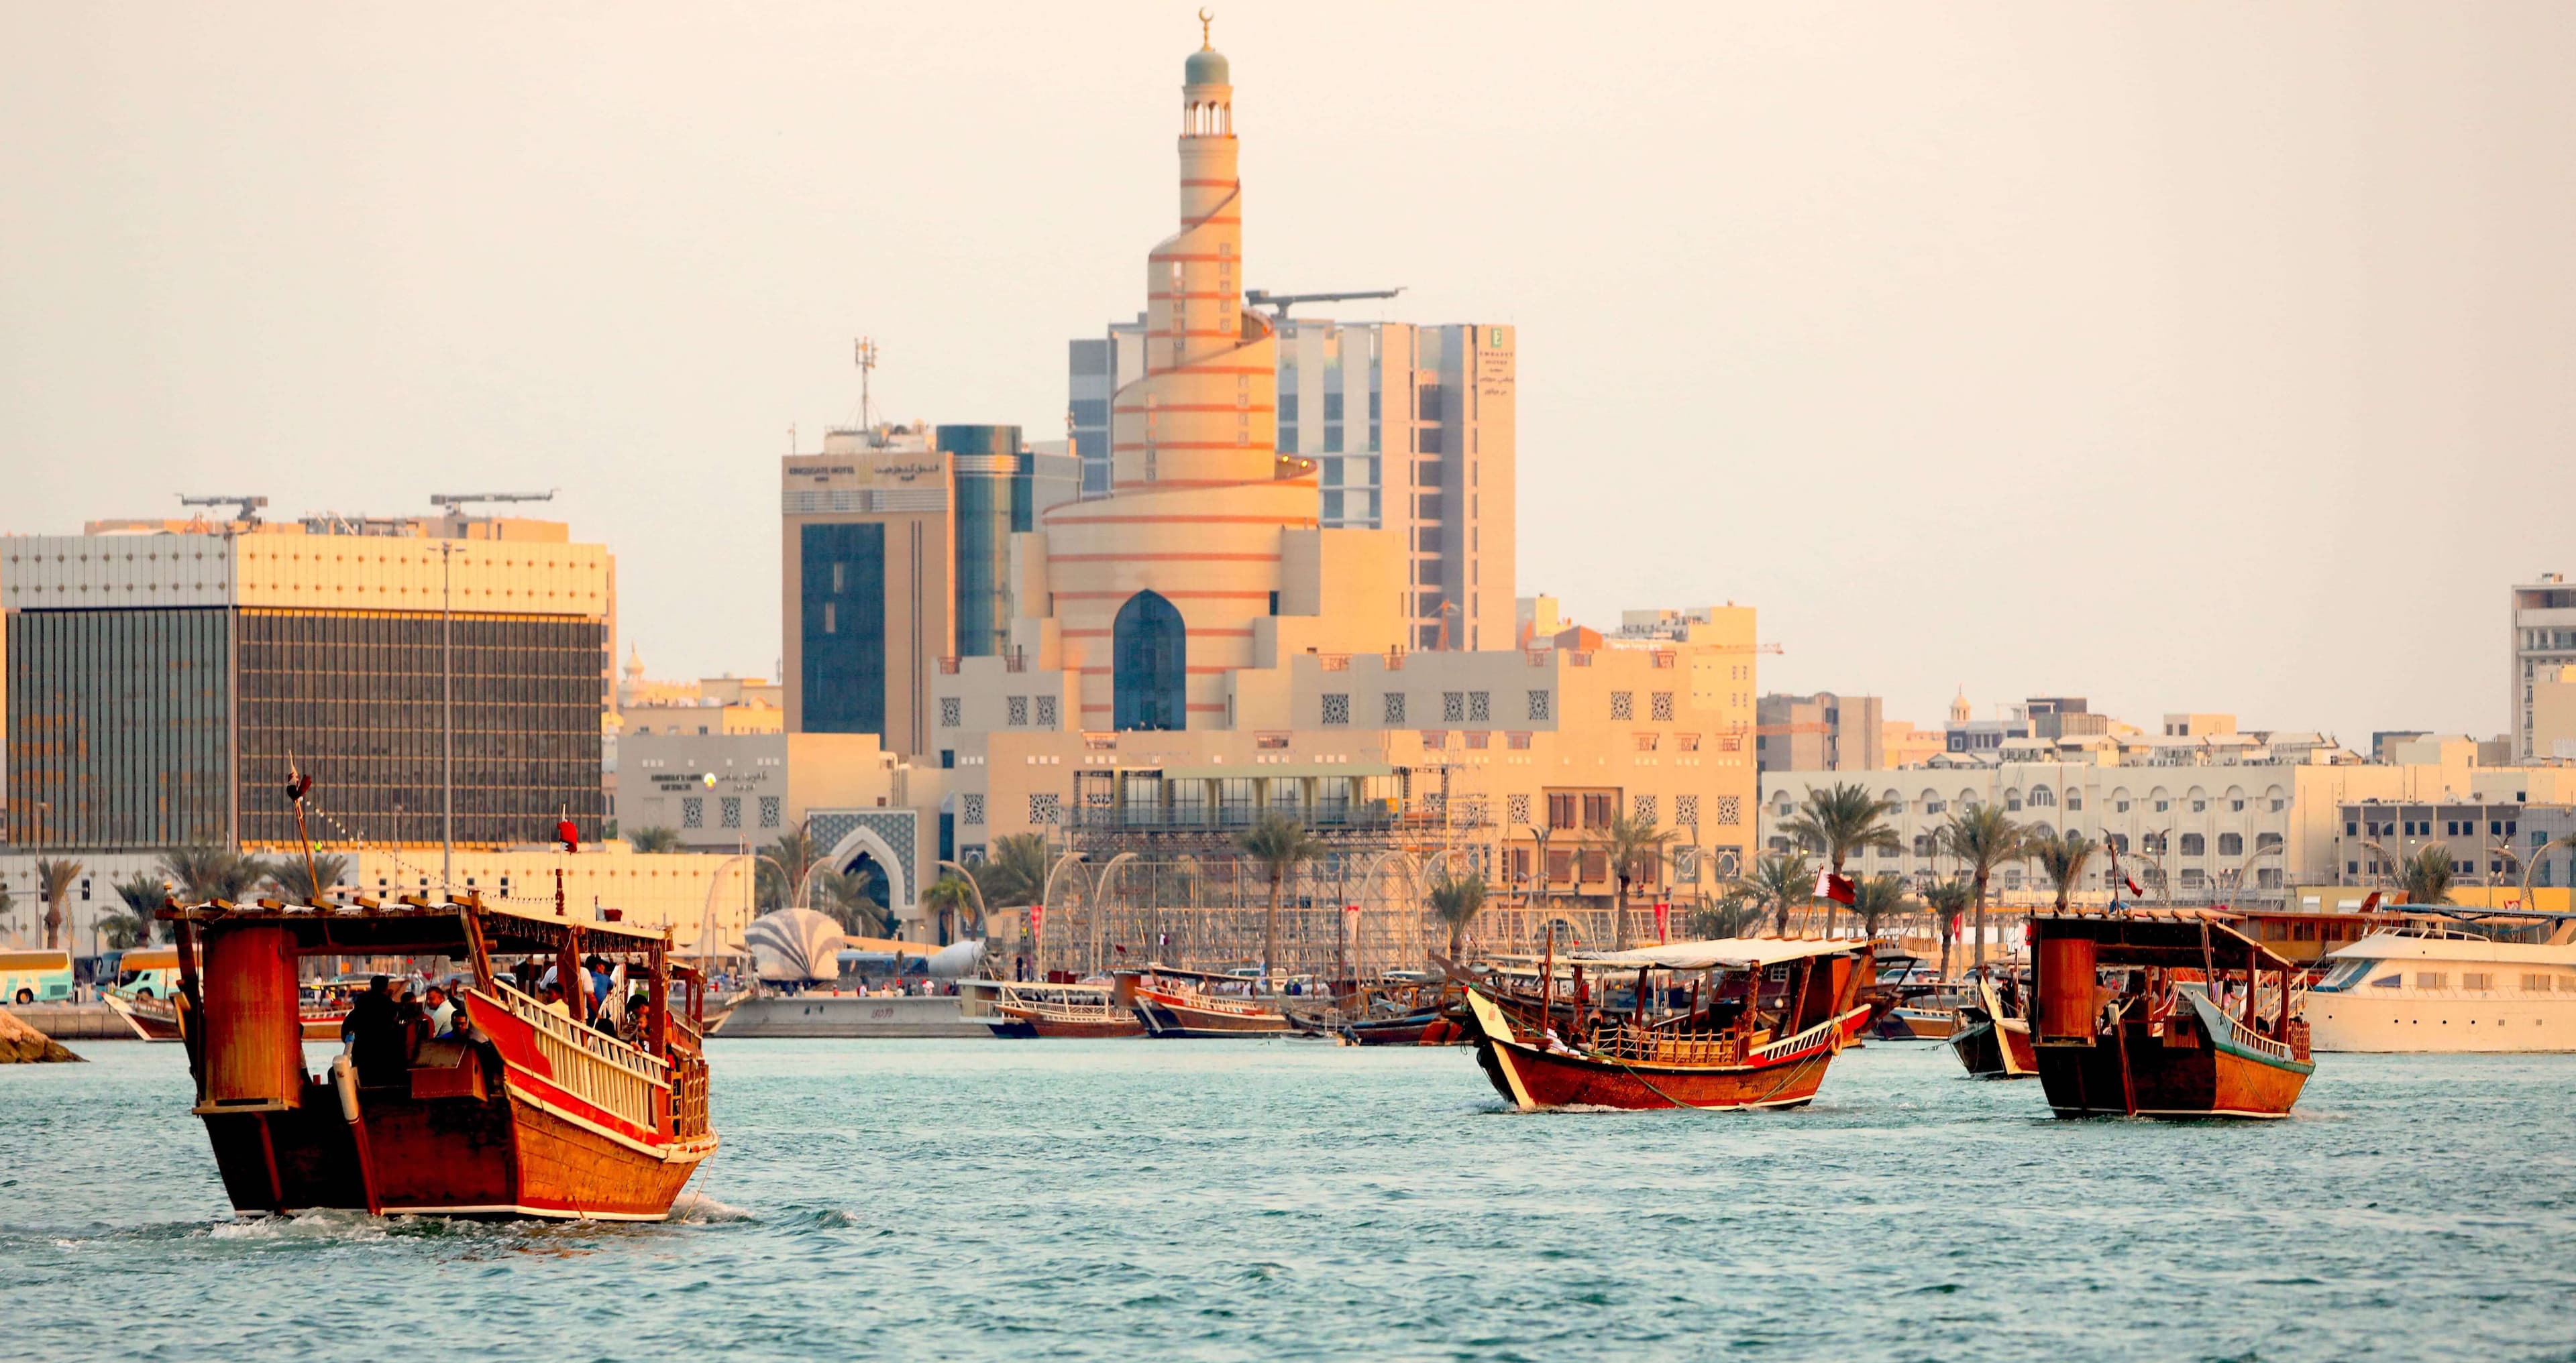
<path fill-rule="evenodd" d="M 1015 425 L 878 425 L 781 477 L 786 729 L 922 752 L 933 667 L 1002 649 L 1010 536 L 1072 500 L 1072 459 Z"/>

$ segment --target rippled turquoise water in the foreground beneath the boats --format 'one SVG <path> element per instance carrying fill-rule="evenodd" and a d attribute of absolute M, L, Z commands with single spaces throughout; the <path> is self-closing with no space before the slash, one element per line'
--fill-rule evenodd
<path fill-rule="evenodd" d="M 0 1358 L 2576 1358 L 2576 1056 L 2061 1123 L 1504 1113 L 1468 1051 L 716 1044 L 667 1226 L 234 1224 L 175 1046 L 0 1067 Z"/>

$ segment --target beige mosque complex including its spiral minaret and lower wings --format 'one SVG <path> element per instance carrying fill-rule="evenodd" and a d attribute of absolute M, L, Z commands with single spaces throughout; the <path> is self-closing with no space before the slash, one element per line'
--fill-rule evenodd
<path fill-rule="evenodd" d="M 938 660 L 925 835 L 935 801 L 943 858 L 1038 832 L 1103 863 L 1288 812 L 1430 830 L 1504 894 L 1607 897 L 1592 843 L 1623 814 L 1672 832 L 1641 894 L 1713 891 L 1754 835 L 1754 611 L 1631 613 L 1607 636 L 1525 618 L 1517 647 L 1425 647 L 1406 531 L 1327 523 L 1316 464 L 1278 448 L 1278 322 L 1244 307 L 1236 152 L 1226 57 L 1200 46 L 1180 227 L 1146 255 L 1144 368 L 1110 399 L 1110 490 L 1010 536 L 1005 647 Z M 1450 459 L 1466 487 L 1510 482 L 1473 448 Z"/>

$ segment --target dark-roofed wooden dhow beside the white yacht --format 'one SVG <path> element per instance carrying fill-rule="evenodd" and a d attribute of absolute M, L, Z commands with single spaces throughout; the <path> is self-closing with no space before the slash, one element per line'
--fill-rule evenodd
<path fill-rule="evenodd" d="M 2058 1116 L 2290 1116 L 2316 1072 L 2303 966 L 2231 915 L 2112 907 L 2030 930 L 2032 1054 Z"/>

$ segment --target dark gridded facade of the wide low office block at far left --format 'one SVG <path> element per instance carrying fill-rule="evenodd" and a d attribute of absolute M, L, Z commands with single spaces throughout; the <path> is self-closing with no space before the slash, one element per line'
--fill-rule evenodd
<path fill-rule="evenodd" d="M 456 843 L 598 827 L 600 654 L 587 616 L 435 611 L 13 611 L 8 837 L 18 848 L 443 837 L 443 662 L 453 657 Z"/>

